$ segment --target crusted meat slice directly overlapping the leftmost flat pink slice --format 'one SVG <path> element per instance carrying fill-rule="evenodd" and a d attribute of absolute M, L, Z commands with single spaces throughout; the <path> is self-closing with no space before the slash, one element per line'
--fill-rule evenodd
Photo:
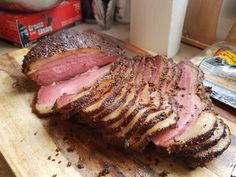
<path fill-rule="evenodd" d="M 61 96 L 56 101 L 56 110 L 62 113 L 64 117 L 70 117 L 79 113 L 81 109 L 100 100 L 103 95 L 110 92 L 114 86 L 118 85 L 126 77 L 120 73 L 125 73 L 129 64 L 129 59 L 119 60 L 113 64 L 109 74 L 98 80 L 89 89 L 76 94 Z"/>

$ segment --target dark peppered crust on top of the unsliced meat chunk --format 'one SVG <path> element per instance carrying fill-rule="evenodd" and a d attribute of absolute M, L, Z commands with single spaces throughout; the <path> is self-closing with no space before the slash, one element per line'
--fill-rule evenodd
<path fill-rule="evenodd" d="M 22 72 L 26 74 L 30 64 L 37 60 L 80 48 L 99 49 L 106 55 L 125 55 L 124 50 L 119 45 L 93 31 L 77 33 L 72 30 L 61 30 L 45 36 L 30 49 L 24 56 Z"/>

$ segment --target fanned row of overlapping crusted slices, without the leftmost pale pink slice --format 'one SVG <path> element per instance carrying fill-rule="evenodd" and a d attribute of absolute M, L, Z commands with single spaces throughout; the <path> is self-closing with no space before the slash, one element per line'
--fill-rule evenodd
<path fill-rule="evenodd" d="M 64 117 L 77 114 L 118 146 L 143 150 L 152 141 L 202 165 L 230 143 L 202 79 L 189 62 L 176 65 L 161 56 L 121 59 L 92 86 L 62 95 L 55 107 Z"/>

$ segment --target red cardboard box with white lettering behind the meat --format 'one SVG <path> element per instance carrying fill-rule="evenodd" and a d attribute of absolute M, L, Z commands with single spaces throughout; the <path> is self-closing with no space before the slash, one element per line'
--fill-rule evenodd
<path fill-rule="evenodd" d="M 27 47 L 46 34 L 81 20 L 80 0 L 63 1 L 57 7 L 37 13 L 0 12 L 0 38 Z"/>

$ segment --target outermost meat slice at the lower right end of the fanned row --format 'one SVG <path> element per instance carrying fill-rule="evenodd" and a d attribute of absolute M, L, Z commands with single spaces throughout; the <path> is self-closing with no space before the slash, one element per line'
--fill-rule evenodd
<path fill-rule="evenodd" d="M 200 151 L 193 156 L 183 157 L 186 164 L 191 168 L 204 166 L 207 162 L 221 155 L 230 145 L 231 133 L 229 127 L 225 125 L 225 136 L 223 136 L 216 145 L 207 150 Z"/>

